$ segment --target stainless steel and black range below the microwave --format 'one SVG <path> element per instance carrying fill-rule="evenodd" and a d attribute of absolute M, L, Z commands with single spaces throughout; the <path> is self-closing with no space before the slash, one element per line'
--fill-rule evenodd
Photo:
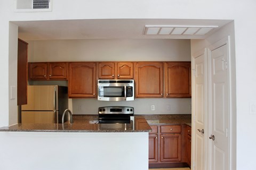
<path fill-rule="evenodd" d="M 130 123 L 134 115 L 133 107 L 107 106 L 99 107 L 99 123 Z"/>

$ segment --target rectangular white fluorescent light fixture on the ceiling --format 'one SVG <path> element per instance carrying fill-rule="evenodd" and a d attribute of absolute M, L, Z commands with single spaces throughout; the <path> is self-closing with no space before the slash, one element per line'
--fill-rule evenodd
<path fill-rule="evenodd" d="M 205 35 L 217 25 L 145 25 L 144 35 Z"/>

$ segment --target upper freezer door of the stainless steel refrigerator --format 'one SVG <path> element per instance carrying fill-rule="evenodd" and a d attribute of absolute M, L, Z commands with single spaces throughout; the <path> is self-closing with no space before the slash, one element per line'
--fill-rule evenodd
<path fill-rule="evenodd" d="M 56 86 L 28 86 L 28 103 L 22 111 L 55 111 L 57 108 Z"/>

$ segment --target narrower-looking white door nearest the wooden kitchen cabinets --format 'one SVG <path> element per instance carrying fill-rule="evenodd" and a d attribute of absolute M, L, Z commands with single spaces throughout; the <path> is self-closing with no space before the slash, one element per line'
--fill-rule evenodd
<path fill-rule="evenodd" d="M 193 113 L 194 113 L 194 142 L 192 151 L 193 170 L 205 169 L 205 57 L 200 55 L 194 59 L 194 93 L 193 93 Z"/>

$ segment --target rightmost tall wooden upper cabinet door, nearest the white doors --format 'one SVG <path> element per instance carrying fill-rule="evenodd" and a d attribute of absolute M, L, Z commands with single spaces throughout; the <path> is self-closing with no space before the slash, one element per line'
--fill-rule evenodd
<path fill-rule="evenodd" d="M 191 97 L 190 70 L 190 62 L 166 63 L 166 97 Z"/>

